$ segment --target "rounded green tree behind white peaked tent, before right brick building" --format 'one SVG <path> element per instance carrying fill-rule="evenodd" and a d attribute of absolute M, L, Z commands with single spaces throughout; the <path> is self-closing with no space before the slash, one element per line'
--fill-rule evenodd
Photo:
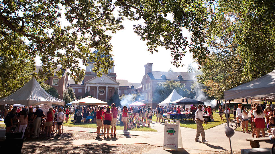
<path fill-rule="evenodd" d="M 190 97 L 190 92 L 185 88 L 185 84 L 175 81 L 161 82 L 157 85 L 153 94 L 153 102 L 162 102 L 173 90 L 176 90 L 182 97 Z"/>

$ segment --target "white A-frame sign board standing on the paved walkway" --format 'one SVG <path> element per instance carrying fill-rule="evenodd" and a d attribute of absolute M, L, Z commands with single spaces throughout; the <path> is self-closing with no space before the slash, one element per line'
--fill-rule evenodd
<path fill-rule="evenodd" d="M 179 146 L 182 148 L 180 121 L 165 120 L 163 149 L 178 150 Z"/>

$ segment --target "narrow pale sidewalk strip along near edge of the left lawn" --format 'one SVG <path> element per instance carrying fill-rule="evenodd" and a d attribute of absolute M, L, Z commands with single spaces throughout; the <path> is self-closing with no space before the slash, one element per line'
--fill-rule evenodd
<path fill-rule="evenodd" d="M 84 128 L 84 127 L 68 127 L 68 126 L 64 126 L 63 130 L 68 130 L 68 131 L 81 131 L 81 132 L 89 132 L 89 133 L 97 133 L 97 129 L 95 128 Z M 107 133 L 107 130 L 106 130 Z M 110 132 L 111 133 L 111 127 L 110 127 Z M 123 133 L 122 130 L 116 130 L 115 132 L 116 134 L 122 134 L 122 135 L 146 135 L 146 134 L 150 134 L 152 132 L 150 131 L 128 131 L 127 133 Z"/>

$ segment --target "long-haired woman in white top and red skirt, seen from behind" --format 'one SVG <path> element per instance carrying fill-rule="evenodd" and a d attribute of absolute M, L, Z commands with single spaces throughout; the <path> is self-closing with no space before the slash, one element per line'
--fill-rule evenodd
<path fill-rule="evenodd" d="M 260 130 L 262 131 L 263 137 L 265 137 L 264 128 L 264 112 L 262 111 L 261 107 L 259 105 L 256 105 L 256 110 L 254 110 L 254 121 L 256 125 L 256 137 L 260 137 Z"/>

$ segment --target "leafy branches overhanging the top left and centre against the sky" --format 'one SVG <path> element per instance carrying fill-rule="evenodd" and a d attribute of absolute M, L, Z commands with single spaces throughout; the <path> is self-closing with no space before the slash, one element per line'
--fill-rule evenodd
<path fill-rule="evenodd" d="M 117 14 L 115 8 L 118 15 L 114 15 Z M 56 66 L 62 65 L 69 69 L 70 78 L 79 82 L 85 70 L 80 68 L 78 60 L 87 65 L 88 57 L 95 61 L 94 72 L 99 76 L 107 74 L 113 66 L 111 33 L 124 28 L 122 21 L 125 18 L 143 19 L 144 25 L 134 25 L 134 32 L 147 41 L 149 52 L 158 51 L 158 46 L 170 50 L 175 66 L 182 65 L 187 48 L 190 51 L 207 49 L 202 37 L 207 8 L 202 1 L 2 1 L 0 10 L 2 38 L 13 34 L 13 44 L 23 47 L 14 51 L 14 55 L 18 54 L 17 57 L 24 61 L 22 67 L 27 67 L 25 63 L 28 62 L 34 64 L 36 56 L 41 57 L 40 78 L 53 76 Z M 184 28 L 192 33 L 190 38 L 183 35 Z M 99 52 L 92 54 L 94 49 Z M 22 50 L 25 54 L 20 54 Z M 4 52 L 1 50 L 1 54 Z M 6 63 L 11 64 L 10 61 Z M 62 72 L 56 74 L 61 76 Z"/>

